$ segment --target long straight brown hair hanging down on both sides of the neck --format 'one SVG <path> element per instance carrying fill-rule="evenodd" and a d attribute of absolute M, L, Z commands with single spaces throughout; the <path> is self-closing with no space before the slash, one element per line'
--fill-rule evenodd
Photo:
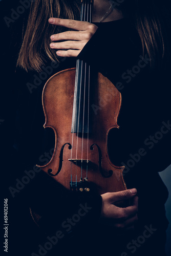
<path fill-rule="evenodd" d="M 133 20 L 142 41 L 143 53 L 151 58 L 151 67 L 162 63 L 167 45 L 165 19 L 166 8 L 157 4 L 157 0 L 125 0 L 120 8 L 125 17 Z M 161 1 L 160 1 L 161 2 Z M 50 17 L 79 19 L 80 1 L 71 0 L 35 0 L 32 2 L 28 24 L 19 51 L 17 66 L 26 71 L 41 71 L 46 57 L 59 61 L 54 50 L 50 49 L 50 36 L 64 31 L 65 28 L 52 26 Z M 167 23 L 167 21 L 166 21 Z"/>

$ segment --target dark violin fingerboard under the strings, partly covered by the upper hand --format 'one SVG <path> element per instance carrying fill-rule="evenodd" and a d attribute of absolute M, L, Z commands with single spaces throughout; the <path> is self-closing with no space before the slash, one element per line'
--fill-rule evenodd
<path fill-rule="evenodd" d="M 92 20 L 92 0 L 81 1 L 80 21 Z M 90 66 L 77 59 L 71 133 L 90 132 Z"/>

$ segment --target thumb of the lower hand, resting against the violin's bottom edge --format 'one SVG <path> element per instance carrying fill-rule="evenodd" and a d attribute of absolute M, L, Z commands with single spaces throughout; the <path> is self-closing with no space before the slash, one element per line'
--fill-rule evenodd
<path fill-rule="evenodd" d="M 122 191 L 115 192 L 113 196 L 109 198 L 109 200 L 111 203 L 114 203 L 121 200 L 131 199 L 132 197 L 135 197 L 136 194 L 137 194 L 136 188 L 122 190 Z"/>

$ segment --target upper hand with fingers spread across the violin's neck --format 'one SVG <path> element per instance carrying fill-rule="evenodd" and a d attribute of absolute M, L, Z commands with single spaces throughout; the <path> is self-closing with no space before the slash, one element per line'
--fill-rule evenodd
<path fill-rule="evenodd" d="M 84 45 L 87 44 L 98 29 L 94 24 L 73 19 L 50 18 L 49 23 L 75 30 L 51 36 L 51 40 L 54 42 L 50 44 L 50 47 L 57 49 L 56 54 L 62 57 L 77 57 Z"/>

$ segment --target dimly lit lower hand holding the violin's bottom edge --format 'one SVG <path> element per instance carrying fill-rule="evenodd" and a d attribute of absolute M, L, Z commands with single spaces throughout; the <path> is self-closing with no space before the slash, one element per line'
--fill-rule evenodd
<path fill-rule="evenodd" d="M 101 221 L 119 229 L 133 227 L 138 220 L 137 190 L 127 189 L 115 193 L 105 193 L 102 197 Z M 117 201 L 132 199 L 132 205 L 120 208 L 114 205 Z"/>

